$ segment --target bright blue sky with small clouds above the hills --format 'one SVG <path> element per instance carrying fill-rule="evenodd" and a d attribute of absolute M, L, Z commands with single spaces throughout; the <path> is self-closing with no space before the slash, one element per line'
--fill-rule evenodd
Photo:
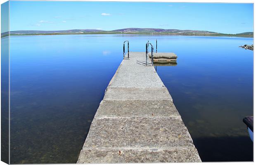
<path fill-rule="evenodd" d="M 10 31 L 120 28 L 253 31 L 253 4 L 11 1 Z"/>

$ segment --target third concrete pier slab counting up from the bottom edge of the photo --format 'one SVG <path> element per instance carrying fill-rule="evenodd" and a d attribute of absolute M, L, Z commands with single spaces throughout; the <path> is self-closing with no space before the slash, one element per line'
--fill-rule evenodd
<path fill-rule="evenodd" d="M 170 100 L 102 100 L 94 118 L 180 117 Z"/>

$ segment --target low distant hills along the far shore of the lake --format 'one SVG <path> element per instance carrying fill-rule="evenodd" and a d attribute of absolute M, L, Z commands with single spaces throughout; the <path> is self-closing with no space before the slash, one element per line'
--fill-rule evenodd
<path fill-rule="evenodd" d="M 253 37 L 253 32 L 239 34 L 223 34 L 211 31 L 178 30 L 162 28 L 123 28 L 113 31 L 102 31 L 96 29 L 72 29 L 64 31 L 10 31 L 10 35 L 64 35 L 64 34 L 141 34 L 141 35 L 201 35 L 201 36 L 237 36 Z M 1 38 L 8 32 L 1 33 Z"/>

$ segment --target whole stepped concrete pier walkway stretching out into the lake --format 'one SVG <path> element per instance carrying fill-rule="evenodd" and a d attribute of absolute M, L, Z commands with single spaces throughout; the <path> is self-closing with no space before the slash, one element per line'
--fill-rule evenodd
<path fill-rule="evenodd" d="M 145 66 L 145 52 L 130 52 L 109 82 L 77 163 L 138 162 L 201 159 L 167 88 Z"/>

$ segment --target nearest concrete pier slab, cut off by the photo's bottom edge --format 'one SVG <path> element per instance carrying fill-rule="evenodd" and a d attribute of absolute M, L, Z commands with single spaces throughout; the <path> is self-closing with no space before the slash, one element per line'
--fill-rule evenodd
<path fill-rule="evenodd" d="M 194 147 L 168 149 L 83 149 L 77 163 L 200 162 Z"/>

